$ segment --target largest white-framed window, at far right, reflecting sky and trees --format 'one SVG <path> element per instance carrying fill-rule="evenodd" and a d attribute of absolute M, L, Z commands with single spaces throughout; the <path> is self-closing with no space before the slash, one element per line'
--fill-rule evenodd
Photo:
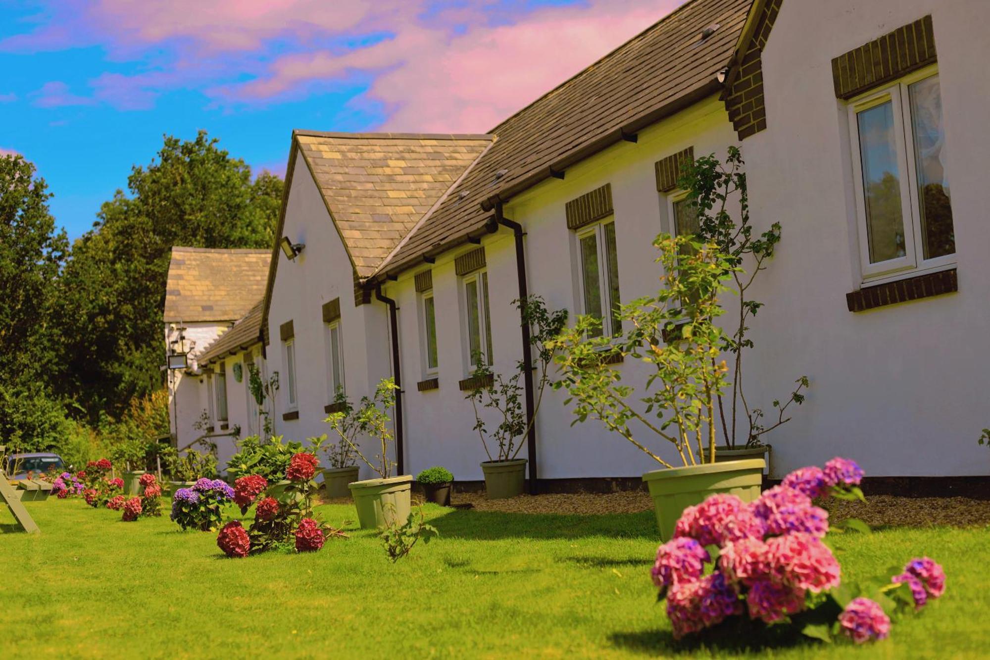
<path fill-rule="evenodd" d="M 954 263 L 937 70 L 870 92 L 849 119 L 864 278 Z"/>

